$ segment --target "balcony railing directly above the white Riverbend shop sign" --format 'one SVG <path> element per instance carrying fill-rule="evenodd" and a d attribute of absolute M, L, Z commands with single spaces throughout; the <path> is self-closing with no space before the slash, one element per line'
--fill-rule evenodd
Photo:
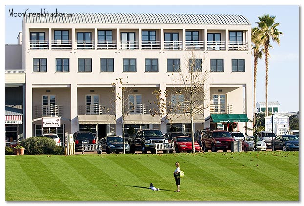
<path fill-rule="evenodd" d="M 62 106 L 56 104 L 34 106 L 36 118 L 43 116 L 60 117 L 62 116 Z"/>

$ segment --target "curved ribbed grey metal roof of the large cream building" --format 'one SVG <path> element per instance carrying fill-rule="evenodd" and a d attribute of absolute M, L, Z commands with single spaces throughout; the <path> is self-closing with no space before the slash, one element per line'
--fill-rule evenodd
<path fill-rule="evenodd" d="M 74 14 L 74 13 L 73 13 Z M 250 25 L 237 14 L 106 14 L 81 13 L 71 15 L 25 15 L 25 23 L 133 23 L 133 24 L 221 24 Z"/>

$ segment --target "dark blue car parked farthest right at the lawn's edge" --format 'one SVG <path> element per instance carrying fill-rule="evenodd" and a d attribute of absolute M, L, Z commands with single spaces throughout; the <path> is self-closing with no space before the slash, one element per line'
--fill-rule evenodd
<path fill-rule="evenodd" d="M 274 138 L 271 146 L 272 145 L 273 150 L 299 151 L 299 137 L 295 135 L 278 135 L 276 138 Z"/>

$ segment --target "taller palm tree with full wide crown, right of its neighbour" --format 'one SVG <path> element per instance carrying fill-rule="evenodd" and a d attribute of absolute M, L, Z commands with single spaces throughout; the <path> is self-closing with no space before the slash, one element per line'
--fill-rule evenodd
<path fill-rule="evenodd" d="M 258 24 L 260 40 L 261 44 L 264 47 L 265 52 L 265 99 L 266 99 L 266 111 L 265 115 L 268 116 L 268 57 L 269 57 L 269 47 L 270 39 L 280 45 L 280 34 L 283 34 L 277 29 L 277 26 L 280 23 L 275 23 L 276 16 L 269 16 L 269 14 L 265 14 L 261 17 L 258 17 L 260 22 L 256 22 Z"/>

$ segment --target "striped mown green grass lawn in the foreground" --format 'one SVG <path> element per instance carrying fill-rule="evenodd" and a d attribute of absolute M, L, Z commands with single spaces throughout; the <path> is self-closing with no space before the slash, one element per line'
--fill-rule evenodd
<path fill-rule="evenodd" d="M 299 152 L 6 155 L 5 200 L 299 201 Z"/>

